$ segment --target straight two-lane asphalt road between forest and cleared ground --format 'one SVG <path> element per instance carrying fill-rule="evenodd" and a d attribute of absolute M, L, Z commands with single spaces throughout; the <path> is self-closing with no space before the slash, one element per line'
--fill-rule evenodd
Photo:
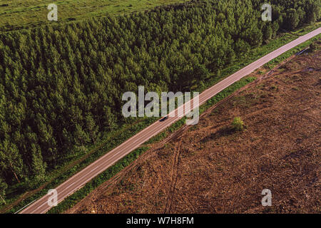
<path fill-rule="evenodd" d="M 285 51 L 294 48 L 295 46 L 307 41 L 313 36 L 317 36 L 317 34 L 319 34 L 320 32 L 321 28 L 317 28 L 315 31 L 307 33 L 305 36 L 300 36 L 295 41 L 287 43 L 285 46 L 282 46 L 277 50 L 272 51 L 266 56 L 263 56 L 257 61 L 246 66 L 245 68 L 242 68 L 240 71 L 233 73 L 233 75 L 229 76 L 228 78 L 225 78 L 223 81 L 220 81 L 219 83 L 215 84 L 215 86 L 208 88 L 203 93 L 200 93 L 199 105 L 202 105 L 206 102 L 206 100 L 220 93 L 220 91 L 224 90 L 236 81 L 239 81 L 241 78 L 248 76 L 248 74 L 252 73 L 253 71 L 255 71 L 255 69 L 259 68 L 260 66 L 263 66 L 265 63 L 271 61 L 273 58 L 280 56 L 282 53 L 285 53 Z M 58 192 L 58 202 L 61 202 L 66 197 L 73 194 L 73 192 L 79 190 L 81 187 L 86 185 L 87 182 L 93 179 L 93 177 L 96 177 L 98 174 L 106 170 L 108 167 L 111 167 L 111 165 L 115 164 L 122 157 L 128 155 L 128 153 L 142 145 L 143 142 L 146 142 L 147 140 L 153 138 L 153 136 L 157 135 L 158 133 L 161 133 L 163 130 L 165 130 L 165 128 L 168 128 L 170 125 L 172 125 L 179 119 L 180 117 L 176 115 L 175 117 L 169 117 L 167 120 L 164 120 L 163 122 L 157 121 L 156 123 L 153 123 L 152 125 L 148 126 L 148 128 L 145 128 L 137 135 L 134 135 L 126 142 L 123 142 L 121 145 L 108 152 L 106 155 L 103 155 L 103 157 L 96 160 L 96 162 L 91 163 L 91 165 L 88 165 L 86 168 L 78 172 L 76 175 L 73 175 L 71 178 L 66 180 L 66 182 L 63 182 L 61 185 L 56 187 L 56 190 Z M 51 207 L 48 204 L 48 199 L 49 195 L 45 195 L 44 197 L 41 197 L 40 199 L 36 200 L 36 202 L 21 210 L 20 213 L 46 213 L 49 209 L 51 209 Z"/>

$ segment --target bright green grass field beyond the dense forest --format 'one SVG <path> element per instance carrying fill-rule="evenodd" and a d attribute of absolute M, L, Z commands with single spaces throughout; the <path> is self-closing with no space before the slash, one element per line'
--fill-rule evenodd
<path fill-rule="evenodd" d="M 58 6 L 58 23 L 61 23 L 106 14 L 129 14 L 185 1 L 188 0 L 0 0 L 0 31 L 56 23 L 47 19 L 47 6 L 53 3 Z"/>

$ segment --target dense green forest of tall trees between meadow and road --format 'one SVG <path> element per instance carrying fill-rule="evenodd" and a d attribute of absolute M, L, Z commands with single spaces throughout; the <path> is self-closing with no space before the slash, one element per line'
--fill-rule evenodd
<path fill-rule="evenodd" d="M 124 92 L 202 90 L 280 29 L 320 20 L 320 0 L 272 0 L 272 21 L 261 20 L 264 2 L 190 1 L 1 33 L 0 196 L 133 121 L 121 115 Z"/>

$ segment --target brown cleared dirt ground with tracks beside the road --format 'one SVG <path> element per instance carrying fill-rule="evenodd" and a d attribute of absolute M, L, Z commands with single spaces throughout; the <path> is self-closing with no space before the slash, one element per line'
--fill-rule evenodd
<path fill-rule="evenodd" d="M 320 66 L 321 51 L 292 58 L 67 213 L 320 213 Z"/>

